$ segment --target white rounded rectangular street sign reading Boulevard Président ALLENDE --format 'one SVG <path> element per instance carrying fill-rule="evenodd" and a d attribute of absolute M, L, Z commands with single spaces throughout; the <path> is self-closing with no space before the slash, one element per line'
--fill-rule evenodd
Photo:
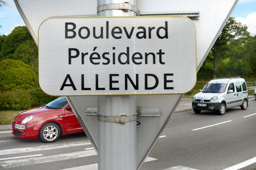
<path fill-rule="evenodd" d="M 183 16 L 49 18 L 39 27 L 39 84 L 49 95 L 184 94 L 196 67 L 196 28 Z"/>

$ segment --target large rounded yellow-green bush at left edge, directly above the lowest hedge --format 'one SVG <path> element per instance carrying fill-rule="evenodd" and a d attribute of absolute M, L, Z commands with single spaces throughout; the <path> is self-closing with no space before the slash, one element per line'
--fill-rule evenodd
<path fill-rule="evenodd" d="M 0 90 L 28 90 L 38 86 L 38 74 L 30 65 L 13 59 L 0 61 Z"/>

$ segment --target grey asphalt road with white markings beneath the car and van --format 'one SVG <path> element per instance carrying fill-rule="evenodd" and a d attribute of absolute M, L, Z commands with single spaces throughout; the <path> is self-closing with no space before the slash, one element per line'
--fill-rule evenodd
<path fill-rule="evenodd" d="M 175 113 L 141 169 L 256 169 L 256 100 L 249 108 Z M 97 155 L 85 134 L 55 143 L 0 131 L 0 169 L 97 169 Z"/>

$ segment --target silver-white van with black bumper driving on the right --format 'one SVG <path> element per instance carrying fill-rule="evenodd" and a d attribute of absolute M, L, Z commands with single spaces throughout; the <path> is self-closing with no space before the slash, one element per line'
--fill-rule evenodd
<path fill-rule="evenodd" d="M 248 107 L 248 92 L 243 78 L 217 78 L 210 80 L 203 90 L 193 96 L 192 108 L 195 113 L 213 110 L 225 114 L 227 108 Z"/>

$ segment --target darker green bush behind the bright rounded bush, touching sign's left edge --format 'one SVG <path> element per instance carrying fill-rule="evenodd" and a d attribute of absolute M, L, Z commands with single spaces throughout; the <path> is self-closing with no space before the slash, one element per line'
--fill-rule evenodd
<path fill-rule="evenodd" d="M 20 44 L 12 56 L 13 59 L 31 65 L 36 73 L 38 73 L 38 46 L 36 46 L 33 40 L 27 40 Z"/>

